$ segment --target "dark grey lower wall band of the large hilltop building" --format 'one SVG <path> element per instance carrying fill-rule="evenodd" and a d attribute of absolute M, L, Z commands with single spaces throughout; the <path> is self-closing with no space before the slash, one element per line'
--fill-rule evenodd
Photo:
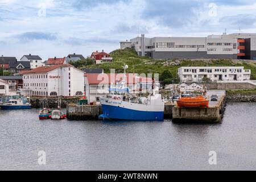
<path fill-rule="evenodd" d="M 201 52 L 171 52 L 171 51 L 151 51 L 153 59 L 237 59 L 237 55 L 208 55 L 206 51 Z"/>

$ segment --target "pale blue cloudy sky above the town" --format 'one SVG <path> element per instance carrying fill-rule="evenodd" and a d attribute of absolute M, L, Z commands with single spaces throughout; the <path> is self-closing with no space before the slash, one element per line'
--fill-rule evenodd
<path fill-rule="evenodd" d="M 251 0 L 0 0 L 0 55 L 64 57 L 151 36 L 256 32 Z"/>

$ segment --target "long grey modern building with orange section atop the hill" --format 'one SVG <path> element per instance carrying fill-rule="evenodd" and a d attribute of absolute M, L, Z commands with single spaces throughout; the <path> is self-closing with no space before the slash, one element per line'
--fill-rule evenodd
<path fill-rule="evenodd" d="M 153 59 L 251 59 L 256 60 L 256 34 L 223 34 L 207 37 L 154 37 L 144 35 L 120 42 L 139 56 Z"/>

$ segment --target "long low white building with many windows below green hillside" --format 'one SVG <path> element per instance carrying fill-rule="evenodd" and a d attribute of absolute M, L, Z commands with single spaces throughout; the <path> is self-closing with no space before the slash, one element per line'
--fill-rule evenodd
<path fill-rule="evenodd" d="M 208 77 L 212 81 L 250 80 L 250 69 L 243 67 L 181 67 L 178 75 L 181 82 L 201 81 Z"/>

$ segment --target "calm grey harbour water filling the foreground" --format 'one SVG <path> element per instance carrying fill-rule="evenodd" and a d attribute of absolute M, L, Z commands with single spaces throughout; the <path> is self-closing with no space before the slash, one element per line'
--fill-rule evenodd
<path fill-rule="evenodd" d="M 255 118 L 255 103 L 228 104 L 215 125 L 39 121 L 38 110 L 0 110 L 0 169 L 255 170 Z M 217 165 L 208 163 L 212 150 Z"/>

